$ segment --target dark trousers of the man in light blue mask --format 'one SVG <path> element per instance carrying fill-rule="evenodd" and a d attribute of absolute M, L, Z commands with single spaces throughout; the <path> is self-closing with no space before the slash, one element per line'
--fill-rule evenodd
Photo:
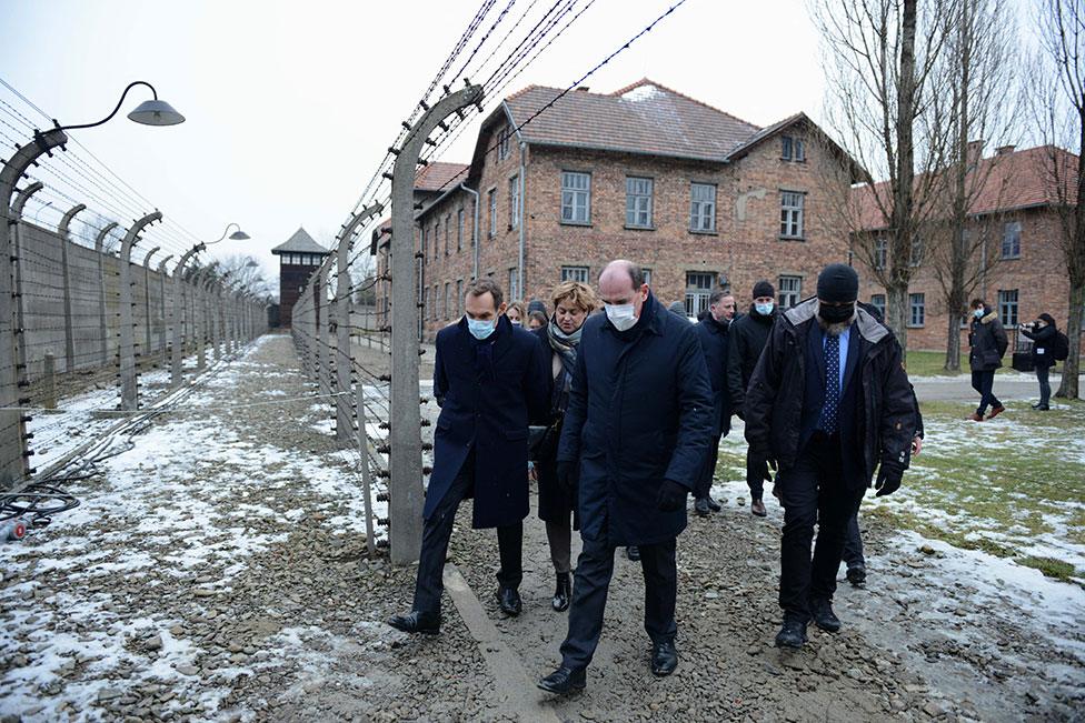
<path fill-rule="evenodd" d="M 415 604 L 412 610 L 440 614 L 440 596 L 445 590 L 442 573 L 445 556 L 448 554 L 448 540 L 452 536 L 456 509 L 471 492 L 475 480 L 475 453 L 468 455 L 452 485 L 445 493 L 434 514 L 422 528 L 422 550 L 418 560 L 418 578 L 415 582 Z M 501 570 L 497 580 L 502 588 L 519 588 L 524 579 L 524 523 L 497 529 L 497 545 L 500 550 Z"/>

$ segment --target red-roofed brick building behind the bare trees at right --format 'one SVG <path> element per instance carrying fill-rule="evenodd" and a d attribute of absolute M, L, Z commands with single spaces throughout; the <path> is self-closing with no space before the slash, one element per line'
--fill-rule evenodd
<path fill-rule="evenodd" d="M 1052 147 L 1015 150 L 1013 145 L 996 149 L 982 158 L 982 143 L 974 143 L 973 175 L 978 179 L 968 212 L 965 233 L 976 239 L 979 250 L 970 261 L 969 274 L 977 282 L 972 297 L 981 297 L 998 311 L 1007 330 L 1018 322 L 1032 321 L 1043 312 L 1051 313 L 1059 329 L 1066 329 L 1069 274 L 1059 247 L 1059 221 L 1055 210 L 1055 192 L 1048 163 L 1057 153 L 1066 170 L 1063 178 L 1068 189 L 1076 188 L 1077 157 Z M 860 191 L 857 190 L 857 193 Z M 1065 195 L 1064 195 L 1065 198 Z M 885 223 L 880 214 L 864 214 L 864 228 L 879 244 L 875 253 L 884 261 Z M 934 227 L 937 229 L 937 221 Z M 938 231 L 920 241 L 915 253 L 918 269 L 909 284 L 908 347 L 944 351 L 949 334 L 949 314 L 936 265 L 942 262 L 935 248 Z M 885 307 L 885 290 L 878 287 L 869 269 L 867 254 L 857 253 L 855 265 L 863 280 L 860 298 L 874 305 Z M 1085 314 L 1085 309 L 1076 310 Z M 959 329 L 962 355 L 967 357 L 967 325 Z M 1085 340 L 1082 340 L 1085 342 Z M 1085 348 L 1085 343 L 1083 343 Z"/>

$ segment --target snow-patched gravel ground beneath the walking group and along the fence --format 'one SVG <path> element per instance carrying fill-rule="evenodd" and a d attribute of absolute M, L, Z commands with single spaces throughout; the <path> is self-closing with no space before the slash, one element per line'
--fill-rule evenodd
<path fill-rule="evenodd" d="M 4 720 L 508 720 L 508 675 L 446 599 L 441 635 L 382 621 L 410 605 L 414 569 L 369 560 L 357 455 L 329 434 L 286 335 L 206 379 L 71 491 L 83 504 L 0 545 Z M 427 414 L 435 409 L 430 404 Z M 648 672 L 639 568 L 620 558 L 588 690 L 528 691 L 560 720 L 1069 720 L 1079 657 L 1018 632 L 1027 611 L 936 571 L 943 558 L 867 531 L 872 585 L 842 590 L 838 635 L 772 647 L 779 510 L 725 511 L 679 539 L 678 672 Z M 384 514 L 382 505 L 377 505 Z M 565 614 L 541 524 L 526 530 L 525 612 L 492 599 L 492 531 L 458 518 L 450 559 L 522 670 L 557 662 Z M 1004 610 L 995 610 L 1003 604 Z M 984 614 L 968 613 L 982 607 Z M 966 610 L 965 615 L 956 610 Z M 992 683 L 998 683 L 993 685 Z M 1075 707 L 1076 705 L 1076 707 Z"/>

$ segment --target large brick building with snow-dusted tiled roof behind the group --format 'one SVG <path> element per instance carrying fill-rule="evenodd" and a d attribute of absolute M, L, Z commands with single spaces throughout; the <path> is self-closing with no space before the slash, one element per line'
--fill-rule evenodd
<path fill-rule="evenodd" d="M 560 92 L 531 86 L 507 98 L 482 122 L 466 173 L 418 212 L 424 335 L 459 318 L 476 274 L 510 299 L 547 300 L 558 282 L 594 283 L 627 258 L 659 299 L 695 315 L 717 288 L 748 304 L 759 279 L 790 307 L 824 264 L 847 260 L 819 179 L 848 159 L 805 114 L 759 128 L 647 79 L 554 102 Z M 374 250 L 384 271 L 387 237 Z"/>

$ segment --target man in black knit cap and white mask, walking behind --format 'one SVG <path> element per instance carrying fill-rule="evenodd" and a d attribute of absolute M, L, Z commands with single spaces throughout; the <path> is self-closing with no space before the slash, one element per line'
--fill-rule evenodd
<path fill-rule="evenodd" d="M 743 405 L 746 402 L 746 389 L 768 341 L 768 332 L 773 330 L 778 315 L 776 289 L 768 281 L 762 280 L 754 284 L 754 303 L 749 307 L 749 313 L 736 319 L 727 332 L 727 392 L 738 419 L 745 419 Z M 754 448 L 747 448 L 746 485 L 749 486 L 749 511 L 759 518 L 767 514 L 762 498 L 765 493 L 765 481 L 769 479 L 768 462 L 758 456 Z"/>

